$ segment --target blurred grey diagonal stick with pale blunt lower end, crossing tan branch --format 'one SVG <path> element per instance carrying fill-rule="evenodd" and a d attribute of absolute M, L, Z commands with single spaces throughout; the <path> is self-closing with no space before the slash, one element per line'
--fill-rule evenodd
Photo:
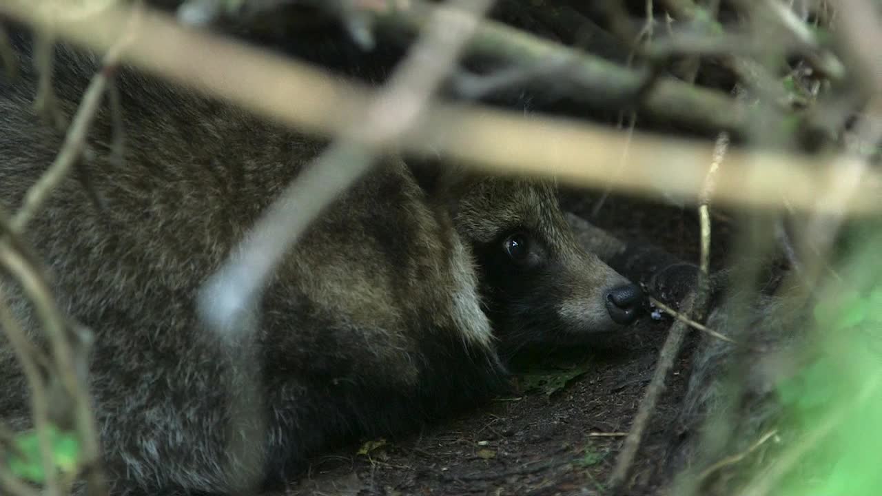
<path fill-rule="evenodd" d="M 422 118 L 490 1 L 456 0 L 454 4 L 457 9 L 437 11 L 437 19 L 427 26 L 422 40 L 365 116 L 345 128 L 339 141 L 288 186 L 227 264 L 206 283 L 199 306 L 213 328 L 227 332 L 241 328 L 273 268 L 303 231 L 370 169 L 377 149 Z"/>

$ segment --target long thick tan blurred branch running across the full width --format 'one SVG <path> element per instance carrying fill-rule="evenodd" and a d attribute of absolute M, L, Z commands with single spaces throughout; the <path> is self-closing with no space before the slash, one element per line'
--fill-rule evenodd
<path fill-rule="evenodd" d="M 43 20 L 34 14 L 33 4 L 49 1 L 0 3 L 0 11 L 39 24 Z M 119 26 L 129 15 L 131 9 L 115 6 L 87 22 L 56 22 L 56 27 L 58 34 L 73 41 L 107 50 L 118 41 Z M 344 84 L 304 64 L 235 41 L 183 29 L 152 11 L 124 57 L 206 94 L 310 132 L 337 132 L 352 122 L 353 116 L 363 115 L 370 95 L 363 86 Z M 231 74 L 243 76 L 231 78 Z M 734 106 L 727 112 L 738 113 L 739 109 Z M 627 141 L 624 133 L 598 125 L 525 118 L 477 105 L 465 109 L 435 104 L 395 145 L 418 154 L 440 152 L 490 172 L 557 175 L 571 184 L 610 184 L 622 192 L 651 195 L 662 189 L 677 199 L 698 198 L 707 171 L 706 157 L 713 153 L 710 146 L 635 132 L 622 173 L 610 177 L 609 163 L 621 160 Z M 501 142 L 506 146 L 499 147 Z M 730 150 L 714 190 L 714 204 L 780 208 L 787 202 L 796 210 L 813 209 L 818 188 L 830 181 L 826 165 L 855 160 L 850 156 Z M 759 171 L 761 181 L 755 179 Z M 879 192 L 882 174 L 868 171 L 846 211 L 867 214 L 882 210 Z"/>

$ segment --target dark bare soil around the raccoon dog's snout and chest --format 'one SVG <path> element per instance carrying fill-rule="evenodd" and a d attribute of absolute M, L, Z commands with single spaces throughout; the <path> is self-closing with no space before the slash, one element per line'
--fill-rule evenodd
<path fill-rule="evenodd" d="M 649 240 L 696 260 L 698 222 L 691 209 L 616 198 L 591 218 L 597 196 L 582 192 L 564 205 L 617 237 Z M 715 234 L 717 245 L 724 245 L 726 226 Z M 721 263 L 720 250 L 714 262 Z M 286 493 L 603 494 L 669 324 L 641 319 L 631 333 L 598 342 L 582 357 L 519 374 L 516 397 L 497 398 L 397 440 L 363 440 L 374 442 L 320 456 Z M 633 494 L 658 492 L 663 474 L 657 468 L 688 380 L 691 348 L 689 342 L 679 357 L 647 432 L 633 470 Z"/>

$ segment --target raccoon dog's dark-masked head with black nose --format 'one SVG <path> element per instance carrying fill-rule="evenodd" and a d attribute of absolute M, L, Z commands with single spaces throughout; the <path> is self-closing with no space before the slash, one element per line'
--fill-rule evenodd
<path fill-rule="evenodd" d="M 638 317 L 639 286 L 579 245 L 555 184 L 507 177 L 453 184 L 454 223 L 472 244 L 504 356 L 579 345 Z"/>

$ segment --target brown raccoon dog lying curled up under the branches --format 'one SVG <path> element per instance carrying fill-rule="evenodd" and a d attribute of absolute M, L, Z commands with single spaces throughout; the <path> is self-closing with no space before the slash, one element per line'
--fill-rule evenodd
<path fill-rule="evenodd" d="M 34 115 L 22 56 L 21 79 L 0 79 L 7 211 L 64 138 Z M 68 117 L 92 60 L 56 55 Z M 61 307 L 95 333 L 90 392 L 115 493 L 222 493 L 244 472 L 285 477 L 335 443 L 479 402 L 521 349 L 578 345 L 633 319 L 639 291 L 579 248 L 549 184 L 388 162 L 288 254 L 253 346 L 222 343 L 198 319 L 198 289 L 321 147 L 132 71 L 116 84 L 124 161 L 112 160 L 105 105 L 83 164 L 100 202 L 74 174 L 26 233 Z M 3 290 L 39 340 L 18 286 L 4 279 Z M 0 343 L 0 417 L 24 429 L 26 384 Z M 256 384 L 235 380 L 243 356 Z M 259 402 L 230 409 L 255 392 Z M 249 430 L 255 418 L 262 430 Z M 262 432 L 247 462 L 227 450 L 244 432 Z"/>

